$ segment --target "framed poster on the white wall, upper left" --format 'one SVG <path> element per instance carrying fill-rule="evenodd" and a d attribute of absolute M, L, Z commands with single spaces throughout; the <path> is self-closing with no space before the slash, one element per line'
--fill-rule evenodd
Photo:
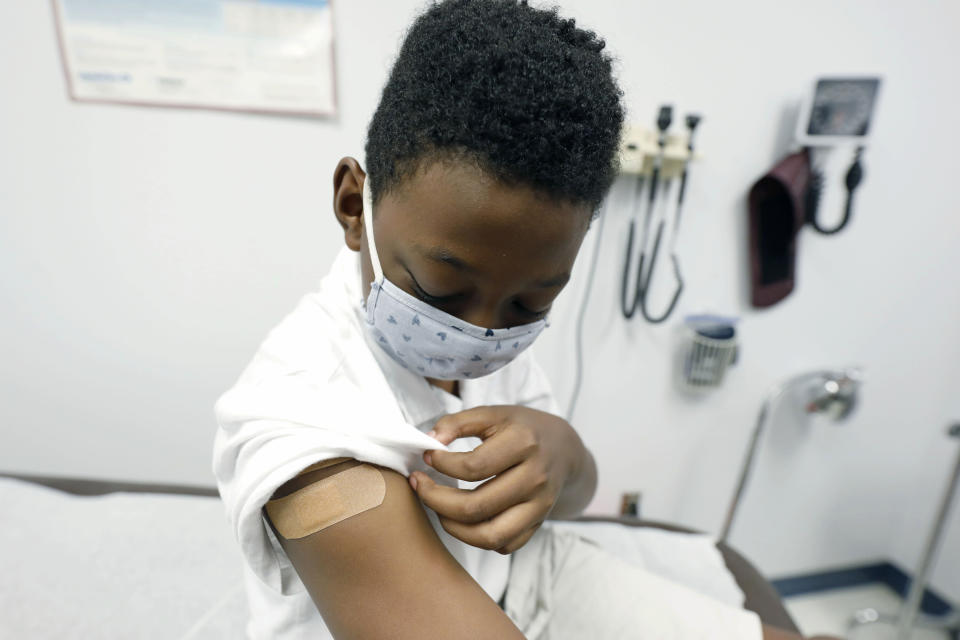
<path fill-rule="evenodd" d="M 52 0 L 74 100 L 336 115 L 329 0 Z"/>

